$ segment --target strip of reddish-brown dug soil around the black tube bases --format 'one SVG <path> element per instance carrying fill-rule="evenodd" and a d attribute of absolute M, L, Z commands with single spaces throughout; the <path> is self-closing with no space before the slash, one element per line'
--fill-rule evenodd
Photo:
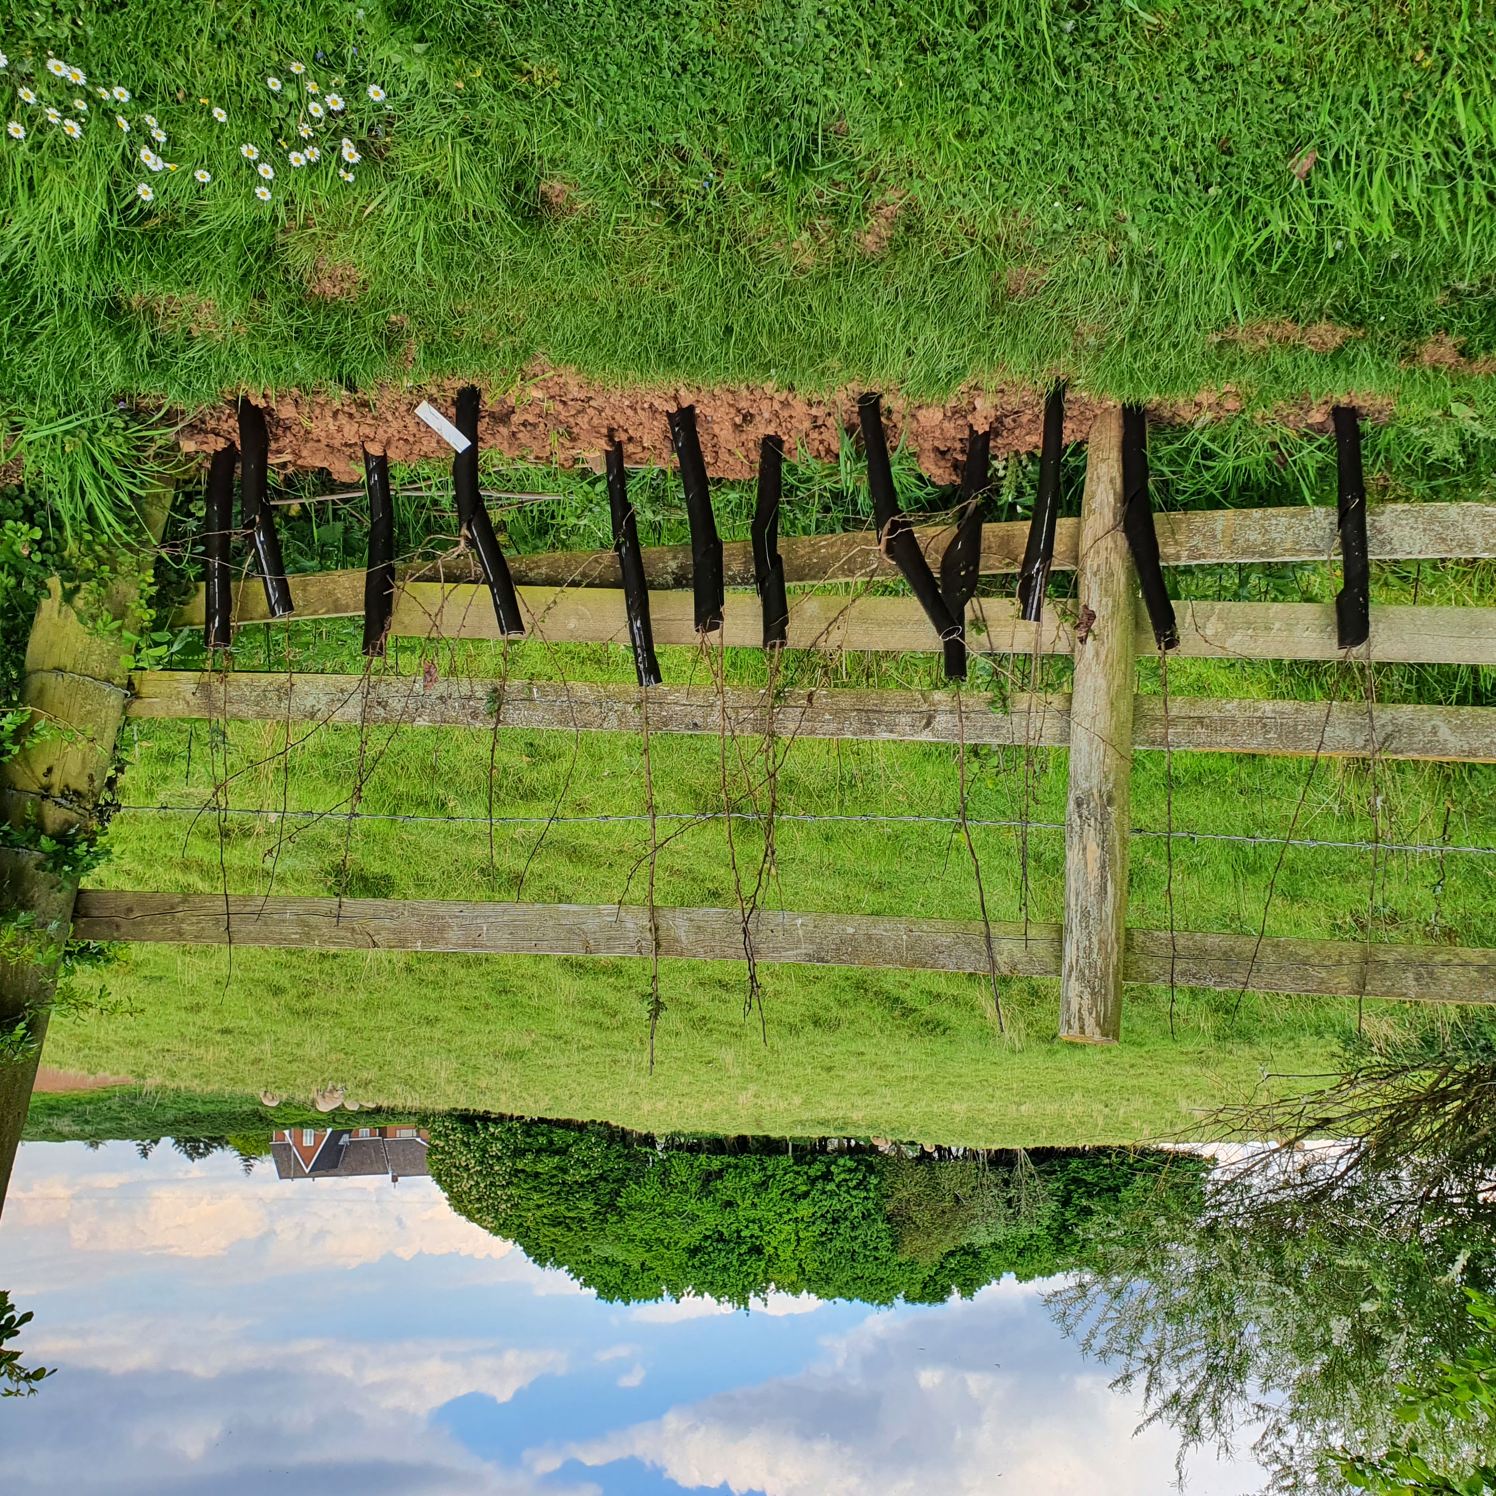
<path fill-rule="evenodd" d="M 392 462 L 449 456 L 443 440 L 416 417 L 416 407 L 429 401 L 450 419 L 459 383 L 452 380 L 423 389 L 386 386 L 368 395 L 296 390 L 250 390 L 248 395 L 266 408 L 272 465 L 323 468 L 340 482 L 356 482 L 364 473 L 364 446 L 383 449 Z M 691 404 L 697 411 L 708 473 L 747 479 L 757 473 L 758 443 L 770 432 L 784 438 L 785 455 L 791 458 L 835 461 L 841 432 L 857 426 L 859 393 L 860 387 L 847 386 L 824 398 L 805 398 L 772 383 L 613 389 L 568 370 L 537 368 L 512 389 L 486 392 L 479 441 L 483 450 L 518 461 L 601 470 L 601 453 L 616 437 L 631 467 L 669 467 L 673 458 L 666 413 Z M 1354 395 L 1343 398 L 1355 401 Z M 1065 402 L 1065 440 L 1085 441 L 1103 404 L 1071 392 Z M 1333 404 L 1331 398 L 1305 399 L 1288 413 L 1290 423 L 1328 431 Z M 1385 413 L 1388 404 L 1381 399 L 1361 408 L 1375 416 Z M 1231 416 L 1242 405 L 1242 396 L 1227 384 L 1149 410 L 1155 420 L 1177 423 L 1200 416 Z M 887 392 L 884 399 L 890 447 L 902 440 L 936 483 L 959 482 L 971 426 L 990 426 L 995 456 L 1037 452 L 1043 417 L 1043 390 L 1017 383 L 963 389 L 944 405 L 905 401 L 896 390 Z M 180 441 L 184 452 L 217 452 L 236 431 L 230 398 L 188 420 Z"/>

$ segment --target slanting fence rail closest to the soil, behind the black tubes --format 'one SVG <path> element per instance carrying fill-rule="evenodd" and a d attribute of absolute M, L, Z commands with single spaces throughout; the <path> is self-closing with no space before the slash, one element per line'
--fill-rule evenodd
<path fill-rule="evenodd" d="M 1382 504 L 1367 513 L 1372 560 L 1438 560 L 1496 555 L 1496 504 Z M 945 554 L 950 525 L 920 525 L 916 536 L 934 567 Z M 1080 521 L 1062 519 L 1055 533 L 1055 570 L 1074 570 Z M 1023 560 L 1028 522 L 987 525 L 981 533 L 984 574 L 1016 571 Z M 1215 562 L 1324 561 L 1339 551 L 1334 507 L 1221 509 L 1189 515 L 1158 515 L 1158 546 L 1164 565 Z M 787 582 L 854 582 L 893 577 L 895 567 L 878 551 L 872 531 L 835 536 L 790 536 L 779 542 Z M 729 586 L 752 586 L 752 552 L 747 542 L 723 546 Z M 524 586 L 619 586 L 612 551 L 554 551 L 509 558 L 515 582 Z M 402 568 L 401 580 L 477 582 L 468 555 Z M 691 585 L 690 546 L 648 546 L 645 577 L 657 591 Z M 328 571 L 292 577 L 296 612 L 335 618 L 362 612 L 364 573 Z M 202 589 L 178 615 L 178 625 L 202 624 Z M 239 622 L 269 618 L 259 582 L 235 588 L 233 616 Z"/>

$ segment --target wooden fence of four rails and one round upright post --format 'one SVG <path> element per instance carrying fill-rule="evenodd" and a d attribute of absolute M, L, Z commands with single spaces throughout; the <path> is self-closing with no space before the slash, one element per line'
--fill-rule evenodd
<path fill-rule="evenodd" d="M 1109 1043 L 1121 1032 L 1123 983 L 1264 992 L 1340 993 L 1405 1001 L 1496 1002 L 1496 951 L 1263 939 L 1242 935 L 1125 929 L 1128 785 L 1132 752 L 1168 748 L 1303 755 L 1378 755 L 1496 761 L 1496 711 L 1370 706 L 1342 702 L 1204 700 L 1137 696 L 1134 663 L 1153 654 L 1146 615 L 1121 530 L 1121 414 L 1097 419 L 1088 449 L 1079 521 L 1061 521 L 1056 568 L 1074 568 L 1077 598 L 1050 606 L 1038 625 L 1014 604 L 974 600 L 968 634 L 992 655 L 1070 654 L 1068 694 L 1013 694 L 977 709 L 968 693 L 790 691 L 772 703 L 758 691 L 660 687 L 649 697 L 651 732 L 859 738 L 911 742 L 1070 748 L 1065 827 L 1067 881 L 1061 926 L 757 911 L 747 938 L 763 962 L 887 965 L 931 971 L 1059 975 L 1061 1034 Z M 1336 554 L 1334 510 L 1272 509 L 1159 515 L 1164 565 L 1322 561 Z M 1026 525 L 989 525 L 981 570 L 1013 571 Z M 923 527 L 938 561 L 950 527 Z M 1367 516 L 1370 555 L 1478 558 L 1496 555 L 1496 506 L 1390 504 Z M 730 585 L 751 582 L 748 548 L 724 548 Z M 820 583 L 791 592 L 790 646 L 820 651 L 935 651 L 919 604 L 875 595 L 893 576 L 868 534 L 781 542 L 787 579 Z M 657 643 L 696 645 L 690 548 L 645 552 Z M 612 552 L 513 558 L 533 637 L 565 643 L 624 642 L 627 627 Z M 841 583 L 827 591 L 826 583 Z M 292 577 L 299 618 L 352 616 L 364 607 L 364 573 Z M 263 619 L 257 582 L 236 591 L 238 622 Z M 1315 603 L 1177 604 L 1179 654 L 1236 660 L 1342 660 L 1334 609 Z M 177 616 L 200 624 L 202 594 Z M 1077 619 L 1089 627 L 1077 628 Z M 1373 607 L 1369 663 L 1496 666 L 1496 609 Z M 751 595 L 729 595 L 721 642 L 758 648 L 761 612 Z M 486 589 L 465 558 L 399 574 L 393 633 L 420 639 L 497 637 Z M 494 682 L 420 676 L 193 675 L 145 672 L 133 681 L 136 718 L 313 721 L 364 726 L 443 726 L 491 730 Z M 726 714 L 726 721 L 724 721 Z M 500 727 L 631 732 L 640 724 L 634 687 L 509 681 Z M 85 892 L 76 934 L 94 939 L 265 944 L 316 948 L 455 950 L 742 959 L 744 917 L 724 910 L 637 907 L 389 902 L 359 899 L 236 899 L 171 893 Z M 655 936 L 651 936 L 651 928 Z M 651 947 L 657 938 L 658 945 Z"/>

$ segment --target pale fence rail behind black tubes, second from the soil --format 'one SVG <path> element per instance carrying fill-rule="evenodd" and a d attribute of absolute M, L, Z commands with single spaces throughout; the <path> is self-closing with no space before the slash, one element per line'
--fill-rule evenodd
<path fill-rule="evenodd" d="M 352 573 L 331 573 L 344 586 Z M 358 573 L 362 588 L 362 573 Z M 322 613 L 313 597 L 317 579 L 293 579 L 301 616 L 344 616 L 352 603 Z M 298 586 L 301 591 L 298 592 Z M 522 586 L 521 607 L 533 639 L 551 643 L 624 643 L 624 594 L 610 588 Z M 1138 603 L 1141 610 L 1141 603 Z M 1218 660 L 1337 660 L 1334 607 L 1328 603 L 1177 603 L 1180 655 Z M 696 645 L 690 592 L 651 592 L 657 645 Z M 1074 627 L 1070 604 L 1046 607 L 1041 624 L 1025 624 L 1002 598 L 975 598 L 966 610 L 968 642 L 989 654 L 1070 654 Z M 178 624 L 184 621 L 178 615 Z M 200 621 L 200 619 L 199 619 Z M 462 583 L 405 582 L 395 595 L 390 633 L 411 639 L 498 639 L 486 588 Z M 712 636 L 714 642 L 718 636 Z M 1150 633 L 1138 630 L 1138 652 L 1150 654 Z M 729 592 L 724 642 L 757 649 L 763 612 L 755 597 Z M 790 595 L 790 648 L 934 652 L 939 639 L 911 597 L 848 592 Z M 1402 664 L 1496 664 L 1496 609 L 1372 607 L 1372 658 Z"/>

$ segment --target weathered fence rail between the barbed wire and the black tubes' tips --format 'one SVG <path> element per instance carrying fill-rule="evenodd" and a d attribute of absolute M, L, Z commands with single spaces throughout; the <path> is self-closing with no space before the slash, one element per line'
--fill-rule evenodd
<path fill-rule="evenodd" d="M 371 727 L 494 726 L 497 681 L 440 678 L 428 688 L 420 676 L 262 675 L 226 676 L 187 670 L 145 670 L 135 676 L 130 717 L 236 723 L 293 721 Z M 1070 696 L 998 699 L 966 693 L 968 744 L 1065 748 L 1070 745 Z M 767 732 L 761 691 L 729 687 L 729 733 Z M 592 681 L 509 681 L 501 727 L 528 732 L 639 732 L 639 690 Z M 950 691 L 788 691 L 773 708 L 781 738 L 856 738 L 892 742 L 960 741 L 956 697 Z M 663 685 L 649 694 L 654 733 L 717 736 L 718 700 L 709 687 Z M 1132 747 L 1158 749 L 1164 741 L 1164 703 L 1138 696 L 1132 703 Z M 1376 706 L 1358 702 L 1273 702 L 1173 697 L 1168 741 L 1176 752 L 1313 754 L 1384 758 L 1436 758 L 1496 763 L 1496 709 L 1487 706 Z"/>

